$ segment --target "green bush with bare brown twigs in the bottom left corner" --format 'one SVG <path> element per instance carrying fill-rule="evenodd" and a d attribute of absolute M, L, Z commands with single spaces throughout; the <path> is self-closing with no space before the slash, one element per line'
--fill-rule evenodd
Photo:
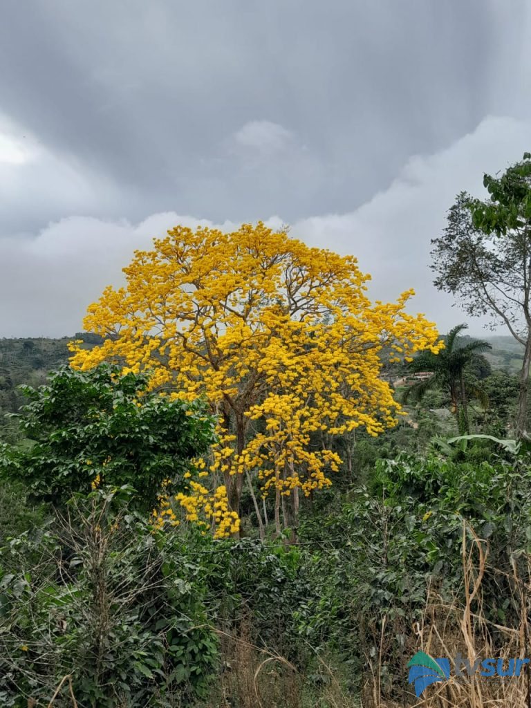
<path fill-rule="evenodd" d="M 0 571 L 2 706 L 47 704 L 67 674 L 91 708 L 205 695 L 217 639 L 197 564 L 130 508 L 133 496 L 127 487 L 76 496 L 54 527 L 4 549 L 0 563 L 8 556 L 12 570 Z M 29 555 L 40 562 L 27 567 Z"/>

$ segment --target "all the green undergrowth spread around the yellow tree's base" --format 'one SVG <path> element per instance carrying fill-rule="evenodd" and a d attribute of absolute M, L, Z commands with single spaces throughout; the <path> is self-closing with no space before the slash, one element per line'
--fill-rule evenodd
<path fill-rule="evenodd" d="M 507 429 L 518 382 L 489 375 L 459 331 L 448 361 L 474 352 L 463 383 L 488 394 L 489 409 L 468 411 L 481 434 L 448 440 L 456 421 L 442 415 L 440 379 L 377 439 L 314 435 L 344 463 L 332 489 L 301 499 L 295 546 L 254 537 L 250 495 L 248 537 L 149 526 L 162 479 L 178 491 L 212 439 L 201 403 L 148 394 L 144 377 L 113 367 L 63 369 L 25 389 L 27 439 L 13 419 L 0 462 L 0 704 L 47 705 L 65 675 L 88 708 L 251 707 L 255 690 L 264 708 L 347 706 L 370 677 L 401 704 L 411 627 L 430 597 L 462 601 L 462 544 L 474 534 L 489 560 L 481 611 L 495 638 L 500 622 L 518 627 L 511 578 L 525 577 L 531 552 L 529 455 Z M 44 352 L 36 340 L 20 348 L 28 360 Z M 341 700 L 327 697 L 338 675 Z M 70 702 L 65 684 L 55 704 Z"/>

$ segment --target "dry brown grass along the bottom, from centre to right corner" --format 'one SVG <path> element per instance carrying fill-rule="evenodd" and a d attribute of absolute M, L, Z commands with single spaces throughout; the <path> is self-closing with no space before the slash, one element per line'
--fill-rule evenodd
<path fill-rule="evenodd" d="M 476 658 L 501 658 L 504 666 L 509 658 L 531 658 L 527 619 L 531 566 L 527 561 L 523 573 L 520 564 L 524 577 L 514 560 L 511 566 L 510 573 L 489 566 L 488 545 L 464 525 L 460 599 L 444 602 L 431 590 L 421 620 L 412 626 L 407 620 L 387 622 L 383 613 L 373 624 L 378 629 L 370 643 L 379 651 L 365 657 L 360 697 L 347 695 L 336 670 L 317 654 L 319 671 L 327 677 L 319 687 L 282 656 L 254 646 L 245 627 L 239 636 L 224 634 L 224 670 L 204 708 L 531 708 L 529 665 L 518 678 L 486 678 L 479 670 L 472 677 L 465 673 L 456 678 L 452 666 L 450 680 L 430 685 L 420 698 L 407 684 L 407 662 L 419 650 L 433 657 L 447 656 L 450 663 L 461 653 L 472 665 Z M 493 622 L 484 611 L 484 581 L 499 581 L 500 576 L 503 587 L 513 588 L 511 600 L 519 607 L 513 626 Z M 398 634 L 406 637 L 402 646 Z M 394 659 L 389 661 L 390 657 Z"/>

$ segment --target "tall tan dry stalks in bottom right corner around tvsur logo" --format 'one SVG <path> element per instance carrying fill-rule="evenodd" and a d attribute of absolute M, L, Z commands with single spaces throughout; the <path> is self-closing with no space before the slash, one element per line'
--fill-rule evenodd
<path fill-rule="evenodd" d="M 467 531 L 472 535 L 467 537 Z M 525 579 L 518 577 L 515 561 L 510 577 L 515 599 L 520 606 L 518 626 L 506 627 L 486 619 L 481 595 L 481 583 L 486 574 L 499 571 L 489 567 L 486 544 L 473 530 L 463 529 L 462 572 L 464 602 L 457 600 L 442 603 L 435 594 L 430 594 L 421 622 L 413 627 L 416 643 L 411 648 L 412 656 L 418 650 L 430 656 L 454 657 L 461 652 L 464 658 L 474 662 L 475 658 L 502 658 L 504 665 L 508 658 L 530 658 L 531 647 L 528 627 L 528 590 L 531 587 L 529 567 Z M 507 575 L 507 573 L 505 573 Z M 473 610 L 474 608 L 474 610 Z M 383 641 L 383 636 L 382 636 Z M 382 695 L 379 688 L 379 670 L 374 672 L 365 686 L 363 708 L 531 708 L 530 666 L 522 671 L 519 678 L 485 678 L 479 670 L 472 677 L 456 678 L 452 675 L 444 683 L 430 685 L 424 695 L 416 698 L 405 685 L 395 690 L 392 698 Z M 404 663 L 403 675 L 406 675 Z M 397 682 L 405 684 L 403 682 Z M 394 699 L 394 700 L 393 700 Z"/>

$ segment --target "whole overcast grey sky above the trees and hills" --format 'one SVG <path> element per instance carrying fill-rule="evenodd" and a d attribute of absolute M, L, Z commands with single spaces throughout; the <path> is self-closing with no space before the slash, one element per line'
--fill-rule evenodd
<path fill-rule="evenodd" d="M 430 239 L 531 149 L 530 37 L 529 0 L 2 0 L 0 336 L 81 330 L 177 223 L 258 219 L 447 331 Z"/>

